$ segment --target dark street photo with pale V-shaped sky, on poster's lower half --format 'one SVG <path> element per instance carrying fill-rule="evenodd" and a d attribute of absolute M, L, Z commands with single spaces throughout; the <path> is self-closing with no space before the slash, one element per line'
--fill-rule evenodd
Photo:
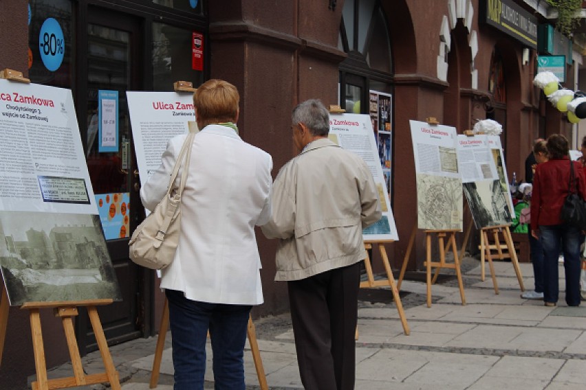
<path fill-rule="evenodd" d="M 499 179 L 464 183 L 464 194 L 477 229 L 511 222 L 507 198 Z"/>

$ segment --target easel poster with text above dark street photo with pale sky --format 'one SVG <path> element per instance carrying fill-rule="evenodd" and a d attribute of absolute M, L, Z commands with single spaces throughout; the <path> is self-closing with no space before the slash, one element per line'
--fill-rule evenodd
<path fill-rule="evenodd" d="M 506 193 L 487 136 L 458 135 L 457 152 L 464 195 L 477 229 L 510 223 Z"/>

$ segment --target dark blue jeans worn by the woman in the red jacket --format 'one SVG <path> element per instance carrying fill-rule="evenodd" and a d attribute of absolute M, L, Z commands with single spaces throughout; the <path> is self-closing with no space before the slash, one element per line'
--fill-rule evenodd
<path fill-rule="evenodd" d="M 563 251 L 565 269 L 565 302 L 580 305 L 580 240 L 581 233 L 567 225 L 540 225 L 543 260 L 543 301 L 558 301 L 558 257 Z"/>

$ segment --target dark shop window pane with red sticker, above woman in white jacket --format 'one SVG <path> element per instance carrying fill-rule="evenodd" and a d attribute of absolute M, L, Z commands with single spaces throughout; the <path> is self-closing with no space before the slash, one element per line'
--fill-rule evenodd
<path fill-rule="evenodd" d="M 204 82 L 204 34 L 163 23 L 153 23 L 153 90 L 173 91 L 173 82 L 191 81 L 194 87 Z"/>

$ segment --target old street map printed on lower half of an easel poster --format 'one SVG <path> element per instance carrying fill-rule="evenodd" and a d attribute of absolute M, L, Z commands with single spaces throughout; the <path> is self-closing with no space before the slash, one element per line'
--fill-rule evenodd
<path fill-rule="evenodd" d="M 462 230 L 462 179 L 417 174 L 417 227 Z"/>

